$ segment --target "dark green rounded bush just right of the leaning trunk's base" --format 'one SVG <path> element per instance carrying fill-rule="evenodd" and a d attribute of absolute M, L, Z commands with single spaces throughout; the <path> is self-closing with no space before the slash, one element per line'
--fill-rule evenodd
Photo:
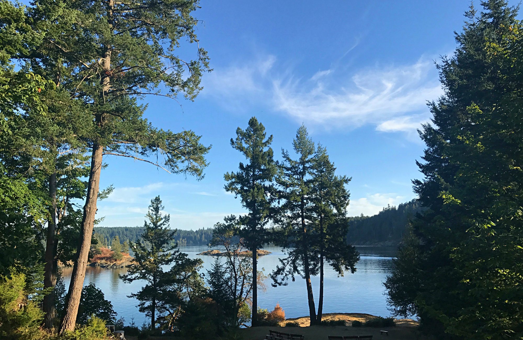
<path fill-rule="evenodd" d="M 91 283 L 82 288 L 76 323 L 87 324 L 93 315 L 105 320 L 106 323 L 114 324 L 116 321 L 116 312 L 112 309 L 112 303 L 105 299 L 103 291 Z"/>

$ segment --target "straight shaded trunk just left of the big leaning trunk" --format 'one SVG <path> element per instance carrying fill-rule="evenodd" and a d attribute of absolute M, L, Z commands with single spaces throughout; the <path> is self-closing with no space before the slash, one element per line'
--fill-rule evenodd
<path fill-rule="evenodd" d="M 46 240 L 46 265 L 44 267 L 43 287 L 53 288 L 49 294 L 43 298 L 43 311 L 46 313 L 44 326 L 48 329 L 53 328 L 54 320 L 54 286 L 56 286 L 56 168 L 49 177 L 49 198 L 51 206 L 49 213 L 51 218 L 47 223 L 47 240 Z"/>

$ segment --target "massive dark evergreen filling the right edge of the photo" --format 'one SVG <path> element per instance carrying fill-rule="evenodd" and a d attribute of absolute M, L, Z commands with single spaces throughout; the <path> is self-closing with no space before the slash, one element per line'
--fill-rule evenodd
<path fill-rule="evenodd" d="M 389 297 L 440 333 L 519 338 L 523 27 L 517 7 L 481 4 L 479 15 L 471 6 L 456 51 L 438 65 L 445 94 L 429 104 L 433 125 L 420 131 L 424 180 L 414 181 L 426 208 L 414 221 L 420 245 L 399 254 Z M 412 252 L 419 252 L 415 270 L 402 265 Z M 415 293 L 396 294 L 413 284 Z"/>

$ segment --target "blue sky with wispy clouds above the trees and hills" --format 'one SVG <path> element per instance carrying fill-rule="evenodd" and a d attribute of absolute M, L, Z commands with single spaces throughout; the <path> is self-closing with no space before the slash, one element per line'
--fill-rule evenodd
<path fill-rule="evenodd" d="M 351 216 L 414 198 L 410 181 L 420 178 L 415 161 L 424 149 L 416 129 L 430 117 L 426 101 L 441 94 L 434 60 L 452 53 L 469 4 L 203 0 L 195 16 L 214 71 L 194 102 L 147 98 L 146 117 L 212 144 L 206 177 L 198 182 L 106 156 L 101 186 L 115 191 L 98 202 L 100 225 L 143 225 L 156 195 L 173 228 L 209 227 L 241 213 L 240 200 L 223 190 L 223 174 L 243 161 L 229 141 L 252 116 L 274 135 L 276 158 L 305 124 L 338 173 L 353 177 Z M 184 55 L 196 51 L 183 48 Z"/>

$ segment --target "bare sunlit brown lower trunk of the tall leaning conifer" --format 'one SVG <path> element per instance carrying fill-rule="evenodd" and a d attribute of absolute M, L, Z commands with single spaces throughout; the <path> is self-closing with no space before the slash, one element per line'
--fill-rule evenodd
<path fill-rule="evenodd" d="M 76 315 L 78 314 L 78 305 L 80 304 L 82 287 L 84 286 L 85 269 L 93 235 L 103 152 L 104 147 L 102 145 L 93 145 L 89 184 L 87 186 L 84 216 L 80 230 L 80 243 L 77 250 L 78 259 L 74 263 L 73 274 L 71 275 L 71 283 L 69 284 L 69 292 L 67 292 L 67 302 L 65 304 L 65 315 L 60 326 L 60 333 L 74 330 Z"/>

